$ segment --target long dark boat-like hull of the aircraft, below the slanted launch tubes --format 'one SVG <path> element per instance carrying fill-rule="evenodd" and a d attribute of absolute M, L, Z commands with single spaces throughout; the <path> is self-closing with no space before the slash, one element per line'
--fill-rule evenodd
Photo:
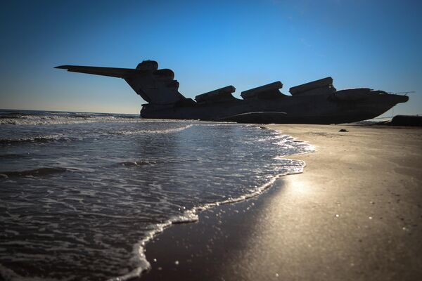
<path fill-rule="evenodd" d="M 367 89 L 353 90 L 367 92 Z M 141 117 L 276 124 L 340 124 L 378 117 L 397 103 L 407 100 L 407 96 L 383 91 L 369 92 L 357 100 L 340 99 L 336 93 L 315 96 L 280 94 L 279 98 L 268 100 L 230 100 L 167 106 L 148 104 L 143 105 Z"/>

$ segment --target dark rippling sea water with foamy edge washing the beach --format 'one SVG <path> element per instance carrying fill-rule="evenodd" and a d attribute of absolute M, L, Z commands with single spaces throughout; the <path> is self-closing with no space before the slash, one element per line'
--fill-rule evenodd
<path fill-rule="evenodd" d="M 153 235 L 301 172 L 283 155 L 310 151 L 248 124 L 1 110 L 0 276 L 139 276 Z"/>

